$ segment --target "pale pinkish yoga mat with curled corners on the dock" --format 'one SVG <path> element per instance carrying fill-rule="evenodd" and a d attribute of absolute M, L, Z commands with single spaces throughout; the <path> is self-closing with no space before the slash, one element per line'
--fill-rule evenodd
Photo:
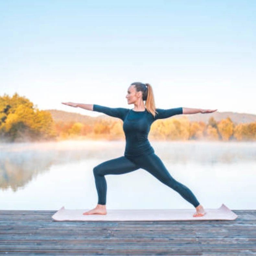
<path fill-rule="evenodd" d="M 206 214 L 193 217 L 195 209 L 108 210 L 106 215 L 83 215 L 89 209 L 61 207 L 52 218 L 55 221 L 174 221 L 174 220 L 235 220 L 238 216 L 222 204 L 217 209 L 205 208 Z"/>

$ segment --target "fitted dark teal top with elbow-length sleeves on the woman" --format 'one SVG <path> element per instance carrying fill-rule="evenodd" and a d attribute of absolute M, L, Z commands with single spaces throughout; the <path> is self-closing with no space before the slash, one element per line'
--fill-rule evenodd
<path fill-rule="evenodd" d="M 157 108 L 157 113 L 154 117 L 147 110 L 134 111 L 132 109 L 110 108 L 96 104 L 93 105 L 93 111 L 122 119 L 126 140 L 124 156 L 128 157 L 155 153 L 148 141 L 148 133 L 151 124 L 157 119 L 164 119 L 174 115 L 183 114 L 182 107 L 172 109 Z"/>

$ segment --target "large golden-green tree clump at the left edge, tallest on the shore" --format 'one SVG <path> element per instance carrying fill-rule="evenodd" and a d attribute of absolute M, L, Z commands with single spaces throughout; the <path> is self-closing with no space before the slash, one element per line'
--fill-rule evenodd
<path fill-rule="evenodd" d="M 0 134 L 6 141 L 35 141 L 54 139 L 56 130 L 51 113 L 40 111 L 29 99 L 0 97 Z"/>

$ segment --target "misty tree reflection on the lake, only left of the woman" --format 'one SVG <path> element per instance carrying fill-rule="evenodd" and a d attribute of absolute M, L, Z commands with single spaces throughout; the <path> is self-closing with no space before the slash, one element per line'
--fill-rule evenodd
<path fill-rule="evenodd" d="M 114 152 L 122 144 L 104 141 L 0 144 L 0 188 L 17 191 L 53 165 L 98 159 L 106 154 L 115 157 Z M 115 151 L 111 150 L 113 147 Z"/>

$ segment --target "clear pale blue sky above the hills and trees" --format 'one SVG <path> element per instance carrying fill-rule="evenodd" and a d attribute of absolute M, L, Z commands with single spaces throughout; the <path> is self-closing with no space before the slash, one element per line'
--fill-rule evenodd
<path fill-rule="evenodd" d="M 256 114 L 256 1 L 0 1 L 0 96 L 98 116 L 61 102 Z"/>

